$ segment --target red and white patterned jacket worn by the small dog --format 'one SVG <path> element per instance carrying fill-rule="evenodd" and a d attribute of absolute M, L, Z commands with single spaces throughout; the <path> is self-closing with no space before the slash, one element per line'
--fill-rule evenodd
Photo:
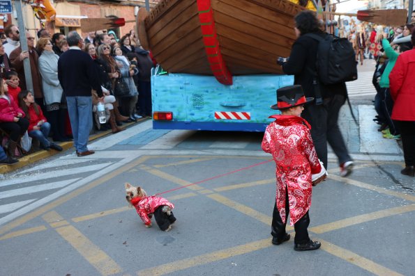
<path fill-rule="evenodd" d="M 142 219 L 145 225 L 151 225 L 151 218 L 149 218 L 149 214 L 154 213 L 158 207 L 167 205 L 174 209 L 172 202 L 169 202 L 164 197 L 156 197 L 154 195 L 151 197 L 134 197 L 131 200 L 131 204 L 135 206 L 138 216 Z"/>

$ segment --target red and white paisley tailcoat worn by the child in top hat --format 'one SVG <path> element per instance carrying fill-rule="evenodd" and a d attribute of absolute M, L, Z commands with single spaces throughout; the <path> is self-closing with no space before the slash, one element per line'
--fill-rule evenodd
<path fill-rule="evenodd" d="M 276 162 L 276 204 L 282 222 L 287 222 L 285 194 L 288 193 L 290 225 L 302 218 L 311 206 L 311 174 L 322 167 L 310 135 L 310 125 L 302 117 L 272 115 L 264 133 L 262 149 Z"/>

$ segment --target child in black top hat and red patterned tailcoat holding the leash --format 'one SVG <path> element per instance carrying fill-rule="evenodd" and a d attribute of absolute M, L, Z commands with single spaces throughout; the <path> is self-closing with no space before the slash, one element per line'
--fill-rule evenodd
<path fill-rule="evenodd" d="M 277 193 L 271 226 L 272 243 L 279 245 L 288 241 L 285 232 L 287 216 L 294 225 L 296 236 L 294 250 L 316 250 L 318 241 L 310 240 L 307 227 L 310 224 L 308 209 L 311 206 L 312 185 L 326 178 L 324 166 L 319 161 L 310 134 L 310 124 L 302 117 L 303 105 L 314 98 L 305 98 L 300 85 L 277 90 L 278 103 L 271 106 L 282 115 L 272 115 L 264 133 L 262 149 L 272 154 L 276 162 Z M 322 173 L 323 172 L 323 173 Z M 322 177 L 312 181 L 312 174 Z"/>

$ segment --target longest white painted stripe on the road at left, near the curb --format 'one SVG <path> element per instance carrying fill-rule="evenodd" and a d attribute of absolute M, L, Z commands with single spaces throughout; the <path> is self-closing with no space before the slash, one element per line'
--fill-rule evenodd
<path fill-rule="evenodd" d="M 63 177 L 65 175 L 70 175 L 70 174 L 80 174 L 82 172 L 92 172 L 96 170 L 102 170 L 103 168 L 109 165 L 112 165 L 112 163 L 107 162 L 107 163 L 100 163 L 98 165 L 87 165 L 81 168 L 73 168 L 73 169 L 68 169 L 68 170 L 56 170 L 53 172 L 45 172 L 42 174 L 36 174 L 33 176 L 29 176 L 29 177 L 20 177 L 20 178 L 4 180 L 4 181 L 1 181 L 0 187 L 9 186 L 13 184 L 22 184 L 25 182 L 38 181 L 38 180 L 43 180 L 43 179 L 50 179 L 53 177 Z"/>

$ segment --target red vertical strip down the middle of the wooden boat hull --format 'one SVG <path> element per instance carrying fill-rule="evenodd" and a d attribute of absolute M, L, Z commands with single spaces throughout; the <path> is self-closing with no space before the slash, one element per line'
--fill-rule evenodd
<path fill-rule="evenodd" d="M 214 71 L 213 75 L 220 83 L 232 85 L 232 75 L 227 69 L 225 60 L 223 60 L 222 54 L 220 53 L 211 0 L 197 0 L 197 11 L 201 24 L 200 28 L 202 29 L 204 49 L 209 56 L 208 61 L 209 65 L 211 65 L 211 70 Z"/>

